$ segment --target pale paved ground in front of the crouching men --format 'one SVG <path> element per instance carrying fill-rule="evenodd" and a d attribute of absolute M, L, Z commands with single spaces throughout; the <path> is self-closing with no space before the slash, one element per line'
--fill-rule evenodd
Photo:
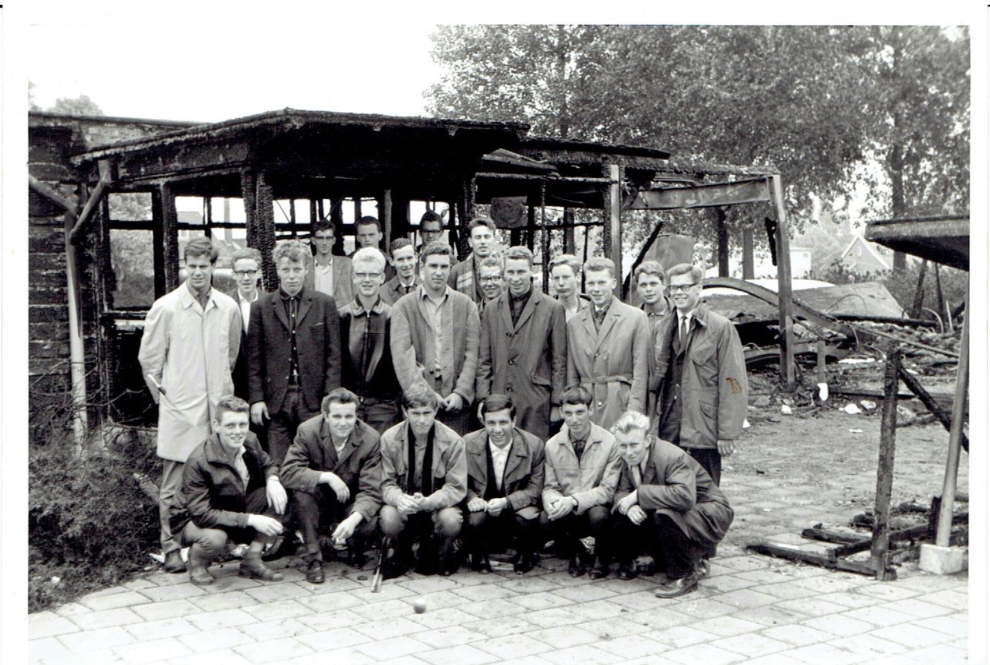
<path fill-rule="evenodd" d="M 747 518 L 739 530 L 769 513 L 765 481 L 724 482 L 732 496 L 751 498 L 737 501 Z M 798 530 L 774 538 L 796 541 Z M 207 589 L 153 573 L 30 616 L 29 654 L 44 665 L 178 664 L 193 655 L 225 665 L 965 662 L 964 573 L 937 577 L 909 565 L 898 581 L 876 582 L 751 555 L 734 542 L 743 538 L 723 544 L 697 592 L 672 601 L 652 595 L 653 578 L 572 580 L 554 558 L 523 577 L 411 574 L 378 594 L 356 579 L 367 571 L 340 563 L 328 564 L 323 585 L 292 567 L 278 583 L 241 579 L 237 562 L 214 567 L 218 580 Z M 413 609 L 419 598 L 422 615 Z"/>

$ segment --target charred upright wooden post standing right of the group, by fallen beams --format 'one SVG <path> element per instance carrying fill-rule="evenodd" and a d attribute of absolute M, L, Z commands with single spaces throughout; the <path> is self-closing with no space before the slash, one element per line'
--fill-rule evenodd
<path fill-rule="evenodd" d="M 870 561 L 876 579 L 887 577 L 887 549 L 890 545 L 890 491 L 894 484 L 894 440 L 897 436 L 897 386 L 901 369 L 901 347 L 887 345 L 883 371 L 883 406 L 880 412 L 880 455 L 876 465 L 876 505 L 873 509 L 873 546 Z"/>

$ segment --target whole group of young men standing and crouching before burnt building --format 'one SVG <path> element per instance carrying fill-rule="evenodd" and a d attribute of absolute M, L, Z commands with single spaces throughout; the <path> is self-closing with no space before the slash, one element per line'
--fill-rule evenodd
<path fill-rule="evenodd" d="M 612 261 L 562 255 L 551 297 L 528 248 L 496 252 L 490 219 L 470 222 L 459 263 L 442 230 L 428 212 L 423 243 L 386 258 L 361 218 L 347 257 L 321 222 L 315 251 L 275 247 L 271 293 L 239 250 L 233 296 L 211 286 L 211 241 L 185 246 L 188 277 L 151 307 L 139 356 L 165 569 L 210 584 L 225 544 L 247 542 L 241 573 L 279 579 L 263 555 L 294 550 L 298 529 L 313 583 L 328 554 L 363 565 L 380 533 L 386 578 L 450 575 L 464 552 L 490 572 L 508 547 L 525 574 L 553 541 L 573 576 L 618 561 L 631 579 L 648 553 L 657 596 L 692 591 L 733 519 L 721 457 L 746 409 L 739 336 L 700 303 L 702 271 L 644 262 L 635 308 Z"/>

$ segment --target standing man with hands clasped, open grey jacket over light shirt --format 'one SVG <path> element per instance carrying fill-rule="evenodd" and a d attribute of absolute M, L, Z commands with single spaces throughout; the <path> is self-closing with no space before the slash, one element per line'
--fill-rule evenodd
<path fill-rule="evenodd" d="M 466 432 L 478 366 L 478 312 L 447 286 L 451 251 L 431 242 L 420 260 L 424 281 L 392 308 L 392 362 L 403 391 L 425 383 L 437 394 L 441 420 Z"/>

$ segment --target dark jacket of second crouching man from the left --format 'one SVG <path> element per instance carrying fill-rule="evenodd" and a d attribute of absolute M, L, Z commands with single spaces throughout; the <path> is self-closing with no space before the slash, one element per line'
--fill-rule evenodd
<path fill-rule="evenodd" d="M 381 508 L 381 447 L 378 432 L 361 421 L 354 425 L 350 440 L 340 458 L 330 438 L 330 428 L 323 414 L 299 426 L 296 439 L 282 462 L 282 484 L 292 490 L 314 493 L 320 474 L 333 471 L 350 490 L 351 513 L 365 522 L 378 515 Z"/>

